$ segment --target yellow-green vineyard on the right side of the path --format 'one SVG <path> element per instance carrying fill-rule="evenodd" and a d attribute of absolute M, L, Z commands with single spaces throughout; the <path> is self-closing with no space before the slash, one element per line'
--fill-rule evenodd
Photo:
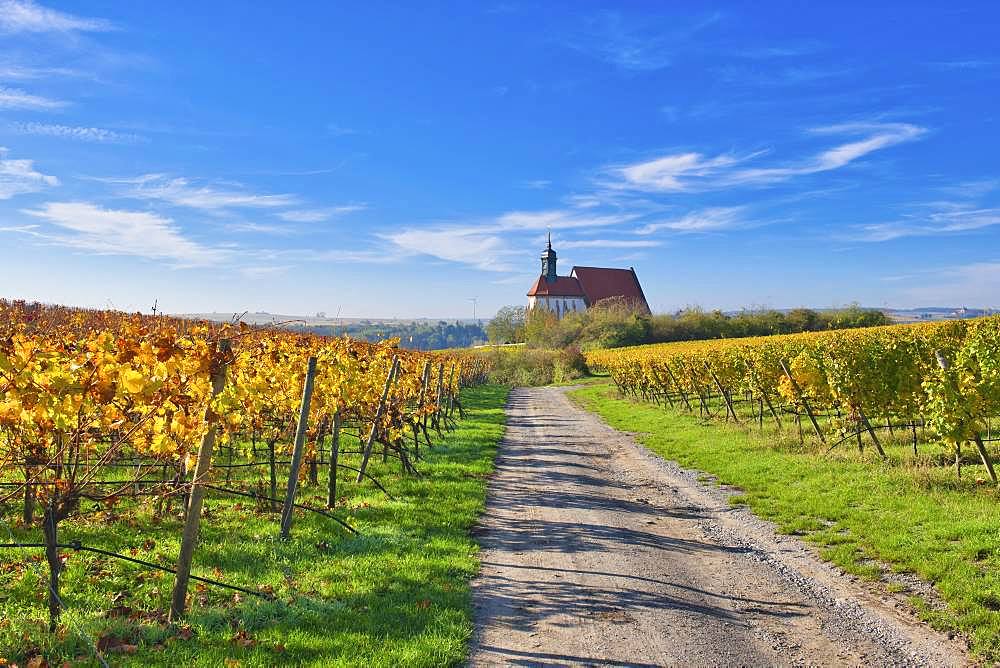
<path fill-rule="evenodd" d="M 918 455 L 920 443 L 933 442 L 961 475 L 971 449 L 984 479 L 997 483 L 997 317 L 595 350 L 587 362 L 624 394 L 793 429 L 828 452 L 868 444 L 890 460 L 887 443 Z"/>

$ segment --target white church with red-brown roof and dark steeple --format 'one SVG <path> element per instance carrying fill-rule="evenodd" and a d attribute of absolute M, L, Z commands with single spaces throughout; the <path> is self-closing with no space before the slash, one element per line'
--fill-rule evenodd
<path fill-rule="evenodd" d="M 573 267 L 569 276 L 556 273 L 556 252 L 552 235 L 542 251 L 542 274 L 528 291 L 528 310 L 543 308 L 563 317 L 585 311 L 602 299 L 617 297 L 649 312 L 649 304 L 639 285 L 635 269 Z"/>

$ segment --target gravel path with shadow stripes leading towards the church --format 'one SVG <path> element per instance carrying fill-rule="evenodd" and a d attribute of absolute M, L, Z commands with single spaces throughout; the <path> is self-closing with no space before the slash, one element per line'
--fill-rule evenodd
<path fill-rule="evenodd" d="M 470 664 L 965 665 L 798 540 L 573 404 L 517 389 L 477 528 Z"/>

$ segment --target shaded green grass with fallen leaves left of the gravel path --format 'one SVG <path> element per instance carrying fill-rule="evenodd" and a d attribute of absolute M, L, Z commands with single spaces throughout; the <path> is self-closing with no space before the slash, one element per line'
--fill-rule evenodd
<path fill-rule="evenodd" d="M 62 577 L 67 610 L 52 635 L 41 550 L 3 550 L 0 657 L 24 665 L 40 652 L 49 665 L 96 665 L 86 637 L 109 648 L 115 666 L 461 663 L 472 632 L 469 580 L 478 569 L 470 529 L 484 507 L 506 395 L 500 386 L 465 391 L 467 418 L 432 450 L 422 449 L 420 478 L 401 475 L 398 461 L 373 457 L 373 473 L 394 501 L 342 472 L 338 507 L 360 537 L 297 511 L 292 538 L 281 541 L 275 514 L 210 492 L 195 574 L 271 588 L 274 601 L 192 582 L 190 613 L 171 626 L 161 611 L 169 607 L 172 575 L 70 552 Z M 324 491 L 305 486 L 300 500 L 322 507 Z M 67 520 L 60 542 L 78 539 L 172 565 L 180 528 L 176 514 L 158 520 L 148 509 L 119 508 Z M 20 542 L 40 541 L 37 528 L 11 530 Z"/>

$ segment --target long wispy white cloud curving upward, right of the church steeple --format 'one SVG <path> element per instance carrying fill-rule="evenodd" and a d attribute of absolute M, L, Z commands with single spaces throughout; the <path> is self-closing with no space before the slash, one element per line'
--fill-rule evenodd
<path fill-rule="evenodd" d="M 695 192 L 734 186 L 767 185 L 796 176 L 827 172 L 890 146 L 917 139 L 926 130 L 908 123 L 842 123 L 813 128 L 814 135 L 860 135 L 861 139 L 826 149 L 803 160 L 776 167 L 745 166 L 767 152 L 745 156 L 707 157 L 676 153 L 613 170 L 612 187 L 646 192 Z"/>

